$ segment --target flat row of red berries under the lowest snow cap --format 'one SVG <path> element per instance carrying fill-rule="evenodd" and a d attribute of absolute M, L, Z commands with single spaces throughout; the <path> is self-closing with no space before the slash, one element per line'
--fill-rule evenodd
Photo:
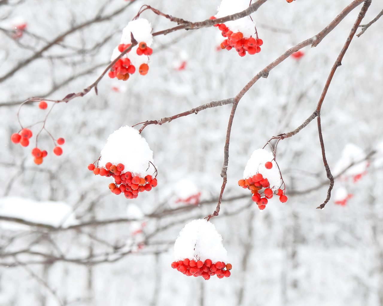
<path fill-rule="evenodd" d="M 202 276 L 208 280 L 210 276 L 217 275 L 218 278 L 229 277 L 231 264 L 225 264 L 223 261 L 217 261 L 215 264 L 210 259 L 202 260 L 184 259 L 172 262 L 172 268 L 177 269 L 187 276 Z M 225 270 L 226 269 L 226 270 Z"/>

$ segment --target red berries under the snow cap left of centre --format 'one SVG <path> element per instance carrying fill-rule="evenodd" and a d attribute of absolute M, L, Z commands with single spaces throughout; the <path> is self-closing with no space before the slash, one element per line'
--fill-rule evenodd
<path fill-rule="evenodd" d="M 125 169 L 123 164 L 114 165 L 106 163 L 105 168 L 88 165 L 88 170 L 95 175 L 113 177 L 114 183 L 109 184 L 109 189 L 116 195 L 124 194 L 127 199 L 136 199 L 139 192 L 150 191 L 157 186 L 157 179 L 151 175 L 140 177 L 131 172 L 122 173 Z"/>

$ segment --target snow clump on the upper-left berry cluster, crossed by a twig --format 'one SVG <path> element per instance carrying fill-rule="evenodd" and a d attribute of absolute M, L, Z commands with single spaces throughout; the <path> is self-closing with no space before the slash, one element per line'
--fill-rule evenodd
<path fill-rule="evenodd" d="M 138 43 L 145 42 L 148 47 L 153 43 L 152 27 L 148 20 L 139 18 L 133 21 L 129 21 L 128 25 L 123 29 L 120 44 L 131 44 L 131 34 Z M 149 57 L 138 55 L 137 46 L 134 46 L 123 58 L 128 57 L 131 63 L 139 67 L 142 63 L 148 63 Z M 118 50 L 118 46 L 113 50 L 111 61 L 115 60 L 121 52 Z"/>

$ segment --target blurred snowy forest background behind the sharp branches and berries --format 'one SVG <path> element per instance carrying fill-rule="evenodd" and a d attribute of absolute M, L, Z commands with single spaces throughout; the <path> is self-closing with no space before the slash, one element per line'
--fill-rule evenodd
<path fill-rule="evenodd" d="M 237 186 L 252 151 L 314 111 L 360 7 L 317 47 L 304 48 L 300 60 L 286 59 L 259 80 L 237 108 L 228 185 L 221 212 L 211 220 L 228 251 L 231 277 L 205 281 L 170 267 L 178 232 L 216 206 L 230 106 L 146 127 L 142 135 L 154 151 L 159 184 L 138 199 L 111 194 L 111 179 L 87 170 L 114 130 L 235 96 L 349 3 L 267 1 L 252 14 L 262 51 L 243 58 L 217 49 L 223 37 L 214 27 L 156 37 L 146 76 L 126 82 L 105 77 L 98 96 L 92 92 L 55 107 L 47 127 L 65 138 L 64 154 L 49 151 L 36 166 L 33 146 L 10 142 L 19 130 L 22 101 L 60 99 L 91 84 L 141 5 L 202 21 L 219 2 L 0 1 L 0 305 L 383 305 L 381 20 L 354 37 L 321 115 L 330 167 L 347 168 L 357 152 L 362 159 L 370 156 L 368 168 L 359 163 L 336 179 L 326 208 L 315 209 L 328 180 L 312 122 L 278 145 L 287 203 L 260 211 Z M 372 1 L 362 24 L 381 9 Z M 173 26 L 150 11 L 143 17 L 155 31 Z M 27 28 L 15 39 L 12 29 L 20 22 Z M 70 29 L 41 56 L 20 64 Z M 42 113 L 36 103 L 28 104 L 21 120 L 33 123 Z M 52 145 L 47 137 L 41 142 Z M 355 180 L 358 171 L 363 175 Z M 345 206 L 335 204 L 340 188 L 353 195 Z M 177 201 L 199 192 L 199 205 Z"/>

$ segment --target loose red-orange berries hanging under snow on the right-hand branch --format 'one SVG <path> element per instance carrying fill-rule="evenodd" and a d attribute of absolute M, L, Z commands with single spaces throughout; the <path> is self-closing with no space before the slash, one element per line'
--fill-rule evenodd
<path fill-rule="evenodd" d="M 271 161 L 265 163 L 266 169 L 273 168 L 273 164 Z M 264 210 L 266 208 L 266 204 L 268 199 L 271 199 L 274 194 L 278 195 L 279 200 L 282 203 L 287 202 L 287 197 L 284 194 L 284 190 L 278 189 L 273 192 L 270 188 L 270 183 L 266 177 L 264 177 L 261 173 L 254 174 L 247 179 L 240 179 L 238 181 L 238 185 L 242 188 L 247 188 L 251 191 L 253 196 L 251 199 L 257 203 L 258 208 L 260 210 Z M 262 190 L 265 188 L 264 190 Z M 259 192 L 261 190 L 261 192 Z"/>

